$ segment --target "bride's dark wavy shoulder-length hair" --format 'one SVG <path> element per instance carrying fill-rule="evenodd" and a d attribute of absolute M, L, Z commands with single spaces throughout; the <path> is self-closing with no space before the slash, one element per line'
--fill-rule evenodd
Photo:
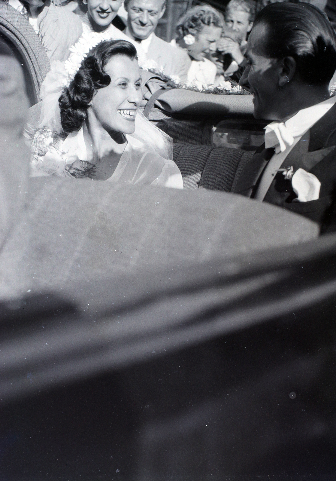
<path fill-rule="evenodd" d="M 62 129 L 66 134 L 78 131 L 87 118 L 87 109 L 98 89 L 107 87 L 111 77 L 105 72 L 106 64 L 115 55 L 137 59 L 137 50 L 126 40 L 106 40 L 89 51 L 69 87 L 58 99 Z"/>

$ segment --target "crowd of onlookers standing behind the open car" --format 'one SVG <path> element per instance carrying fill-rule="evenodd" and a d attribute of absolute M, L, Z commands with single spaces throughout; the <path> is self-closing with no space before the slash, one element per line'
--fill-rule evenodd
<path fill-rule="evenodd" d="M 254 0 L 231 0 L 224 15 L 206 4 L 195 6 L 179 19 L 175 38 L 168 43 L 155 35 L 165 12 L 165 0 L 8 3 L 32 25 L 50 62 L 66 61 L 70 48 L 91 30 L 114 40 L 131 39 L 141 66 L 162 72 L 176 83 L 200 88 L 227 77 L 239 80 L 255 15 Z M 126 12 L 124 20 L 118 15 L 121 8 Z"/>

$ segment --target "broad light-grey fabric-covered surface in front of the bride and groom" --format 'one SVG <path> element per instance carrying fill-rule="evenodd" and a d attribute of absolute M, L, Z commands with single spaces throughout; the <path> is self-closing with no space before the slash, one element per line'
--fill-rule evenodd
<path fill-rule="evenodd" d="M 318 235 L 318 226 L 302 216 L 209 190 L 38 177 L 29 179 L 25 198 L 22 220 L 0 255 L 2 299 L 139 268 L 166 269 L 168 279 L 173 265 Z"/>

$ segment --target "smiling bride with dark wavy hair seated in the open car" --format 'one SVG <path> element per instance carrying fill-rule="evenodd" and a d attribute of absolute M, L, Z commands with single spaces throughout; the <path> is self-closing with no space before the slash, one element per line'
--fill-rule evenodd
<path fill-rule="evenodd" d="M 62 89 L 59 109 L 52 115 L 59 112 L 62 129 L 37 129 L 31 175 L 183 189 L 181 173 L 171 160 L 172 139 L 138 112 L 141 100 L 135 47 L 124 40 L 100 42 Z"/>

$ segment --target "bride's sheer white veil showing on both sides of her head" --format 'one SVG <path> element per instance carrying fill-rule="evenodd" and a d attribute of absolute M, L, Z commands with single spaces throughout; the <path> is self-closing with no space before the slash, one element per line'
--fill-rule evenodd
<path fill-rule="evenodd" d="M 69 74 L 64 63 L 57 61 L 51 63 L 41 86 L 42 109 L 39 127 L 50 128 L 53 132 L 61 132 L 61 114 L 58 99 L 62 89 L 69 85 Z M 164 159 L 173 159 L 173 139 L 153 125 L 141 113 L 137 112 L 135 120 L 135 132 L 130 137 L 135 143 L 141 142 L 143 148 L 161 155 Z"/>

